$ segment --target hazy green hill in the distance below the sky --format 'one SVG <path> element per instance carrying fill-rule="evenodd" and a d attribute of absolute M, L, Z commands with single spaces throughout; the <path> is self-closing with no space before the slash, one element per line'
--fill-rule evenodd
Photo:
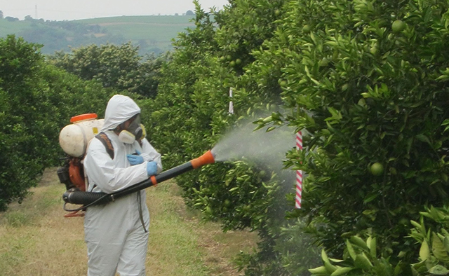
<path fill-rule="evenodd" d="M 43 45 L 42 53 L 69 51 L 70 48 L 131 41 L 140 54 L 166 52 L 177 34 L 194 27 L 193 15 L 147 15 L 93 18 L 71 21 L 0 20 L 0 37 L 22 36 L 26 41 Z"/>

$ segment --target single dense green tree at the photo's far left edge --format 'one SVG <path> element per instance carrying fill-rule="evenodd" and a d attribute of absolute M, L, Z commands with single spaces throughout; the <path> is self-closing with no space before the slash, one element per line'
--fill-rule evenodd
<path fill-rule="evenodd" d="M 40 101 L 43 58 L 37 49 L 15 36 L 0 39 L 0 211 L 22 200 L 46 165 L 52 106 Z"/>

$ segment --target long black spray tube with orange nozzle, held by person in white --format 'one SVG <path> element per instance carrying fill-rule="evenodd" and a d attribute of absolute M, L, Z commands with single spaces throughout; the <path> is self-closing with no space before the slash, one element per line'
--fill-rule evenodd
<path fill-rule="evenodd" d="M 162 181 L 172 179 L 173 177 L 177 177 L 180 174 L 184 174 L 185 172 L 189 172 L 190 170 L 194 170 L 203 165 L 212 163 L 215 163 L 215 156 L 213 155 L 212 151 L 206 151 L 206 153 L 204 153 L 199 158 L 194 158 L 187 163 L 184 163 L 177 167 L 173 167 L 169 170 L 161 172 L 160 174 L 153 175 L 149 179 L 139 182 L 138 184 L 125 188 L 121 191 L 116 191 L 114 193 L 66 191 L 62 195 L 62 200 L 65 201 L 64 209 L 67 212 L 76 212 L 89 206 L 106 204 L 107 202 L 112 202 L 125 195 L 129 195 L 130 193 L 135 193 L 145 188 L 155 186 Z M 83 205 L 83 207 L 80 207 L 78 209 L 66 209 L 65 205 L 67 203 Z"/>

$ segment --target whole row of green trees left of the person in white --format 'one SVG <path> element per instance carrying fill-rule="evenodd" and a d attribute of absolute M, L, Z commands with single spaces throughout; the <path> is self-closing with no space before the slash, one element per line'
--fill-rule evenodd
<path fill-rule="evenodd" d="M 104 110 L 110 95 L 46 64 L 39 46 L 0 40 L 1 211 L 21 202 L 45 167 L 58 165 L 59 131 L 69 118 Z"/>

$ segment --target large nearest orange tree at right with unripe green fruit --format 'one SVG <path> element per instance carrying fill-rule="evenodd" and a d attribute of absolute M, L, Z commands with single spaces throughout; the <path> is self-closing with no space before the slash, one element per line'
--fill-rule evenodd
<path fill-rule="evenodd" d="M 448 200 L 448 8 L 290 1 L 254 53 L 254 69 L 282 73 L 289 111 L 272 120 L 307 130 L 307 151 L 286 161 L 307 173 L 303 209 L 290 216 L 307 218 L 331 255 L 344 237 L 368 232 L 392 263 L 415 261 L 410 219 Z"/>

